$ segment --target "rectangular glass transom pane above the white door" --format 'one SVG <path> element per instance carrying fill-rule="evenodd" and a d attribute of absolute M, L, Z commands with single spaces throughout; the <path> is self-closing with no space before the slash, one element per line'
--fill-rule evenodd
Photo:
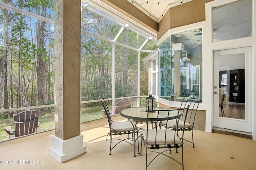
<path fill-rule="evenodd" d="M 252 0 L 239 0 L 212 10 L 212 41 L 252 36 Z"/>

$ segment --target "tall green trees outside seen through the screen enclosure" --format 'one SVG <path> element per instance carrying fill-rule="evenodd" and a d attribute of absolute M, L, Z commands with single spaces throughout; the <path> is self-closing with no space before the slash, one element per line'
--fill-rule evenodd
<path fill-rule="evenodd" d="M 18 3 L 19 2 L 19 3 Z M 22 2 L 22 3 L 21 3 Z M 53 0 L 18 0 L 20 9 L 36 13 L 40 16 L 52 18 L 54 10 Z M 2 9 L 0 9 L 1 15 Z M 107 14 L 106 14 L 107 15 Z M 12 21 L 9 25 L 8 34 L 8 61 L 12 65 L 12 71 L 16 80 L 14 83 L 8 79 L 8 94 L 14 97 L 8 98 L 8 105 L 13 103 L 18 107 L 19 103 L 24 105 L 24 100 L 19 92 L 19 88 L 24 93 L 31 106 L 38 104 L 40 89 L 38 85 L 38 72 L 42 71 L 42 104 L 54 103 L 54 36 L 51 36 L 51 24 L 44 21 L 36 20 L 12 12 Z M 0 17 L 0 26 L 3 27 L 2 18 Z M 93 12 L 85 10 L 82 15 L 82 29 L 89 33 L 114 39 L 122 26 L 114 23 L 108 18 L 99 16 Z M 0 36 L 2 36 L 0 32 Z M 145 37 L 138 35 L 126 28 L 118 38 L 118 42 L 138 48 L 145 41 Z M 97 100 L 112 97 L 112 46 L 114 43 L 99 39 L 91 35 L 81 35 L 81 101 Z M 131 96 L 137 94 L 137 66 L 138 51 L 127 48 L 122 45 L 115 45 L 115 94 L 116 97 Z M 2 50 L 2 47 L 0 47 Z M 155 43 L 148 41 L 144 49 L 156 49 Z M 148 94 L 147 65 L 142 63 L 149 53 L 141 53 L 140 59 L 140 89 L 141 94 Z M 0 56 L 2 57 L 2 56 Z M 42 63 L 38 64 L 39 60 Z M 10 70 L 8 70 L 8 78 Z M 10 90 L 12 87 L 12 90 Z M 4 98 L 3 98 L 4 99 Z M 3 101 L 3 100 L 2 100 Z M 23 106 L 22 105 L 22 106 Z M 87 107 L 95 107 L 97 104 L 88 104 Z M 87 109 L 84 109 L 87 110 Z M 81 109 L 84 120 L 85 117 L 98 117 L 101 111 L 96 111 L 95 115 L 92 110 L 88 112 Z M 44 109 L 42 115 L 50 116 L 54 109 Z M 52 115 L 51 115 L 52 116 Z M 53 117 L 49 118 L 53 118 Z M 46 118 L 48 119 L 48 117 Z M 91 119 L 91 118 L 90 118 Z M 42 122 L 40 128 L 47 129 L 52 122 Z M 45 127 L 44 127 L 45 125 Z"/>

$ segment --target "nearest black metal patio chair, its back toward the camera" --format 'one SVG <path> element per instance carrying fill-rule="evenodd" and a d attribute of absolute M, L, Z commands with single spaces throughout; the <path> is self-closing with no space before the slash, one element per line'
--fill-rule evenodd
<path fill-rule="evenodd" d="M 181 109 L 156 109 L 155 113 L 157 115 L 157 127 L 159 127 L 160 119 L 158 119 L 158 115 L 160 114 L 166 114 L 166 122 L 168 123 L 168 120 L 170 117 L 170 114 L 175 115 L 175 119 L 173 119 L 176 122 L 176 127 L 178 126 L 178 122 L 181 116 L 181 112 L 184 111 L 184 115 L 186 118 L 186 115 L 188 113 L 188 108 L 181 108 Z M 149 109 L 148 109 L 149 110 Z M 147 121 L 149 120 L 149 114 L 152 114 L 148 111 L 147 113 Z M 185 123 L 183 123 L 184 127 Z M 161 127 L 161 126 L 160 126 Z M 184 160 L 183 160 L 183 135 L 184 135 L 184 128 L 182 131 L 182 134 L 180 134 L 180 137 L 178 136 L 178 128 L 175 128 L 174 131 L 171 129 L 167 128 L 155 128 L 155 129 L 150 129 L 148 126 L 148 123 L 146 125 L 146 129 L 142 130 L 142 134 L 140 135 L 141 137 L 141 150 L 140 150 L 140 155 L 142 155 L 143 151 L 146 151 L 146 169 L 148 166 L 159 156 L 159 155 L 164 155 L 172 160 L 178 162 L 180 165 L 182 165 L 182 169 L 184 169 Z M 146 148 L 146 150 L 142 150 L 142 144 Z M 176 152 L 178 148 L 182 148 L 182 153 L 181 153 L 181 159 L 176 158 L 175 156 L 170 156 L 171 154 L 171 149 L 176 148 Z M 165 153 L 168 151 L 169 153 Z M 154 158 L 148 161 L 148 152 L 155 152 L 156 155 Z"/>

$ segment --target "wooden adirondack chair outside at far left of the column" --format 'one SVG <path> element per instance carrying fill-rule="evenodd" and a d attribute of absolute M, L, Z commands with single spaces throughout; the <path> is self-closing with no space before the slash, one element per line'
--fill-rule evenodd
<path fill-rule="evenodd" d="M 9 138 L 19 137 L 37 132 L 39 112 L 35 110 L 22 111 L 14 115 L 14 128 L 5 127 Z"/>

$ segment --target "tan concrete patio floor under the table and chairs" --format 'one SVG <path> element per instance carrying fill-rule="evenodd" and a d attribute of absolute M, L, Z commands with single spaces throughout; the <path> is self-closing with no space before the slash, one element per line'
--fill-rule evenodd
<path fill-rule="evenodd" d="M 126 121 L 120 115 L 114 121 Z M 59 163 L 48 154 L 54 131 L 46 131 L 0 143 L 1 170 L 141 170 L 145 169 L 145 152 L 133 156 L 133 147 L 120 143 L 108 155 L 110 138 L 106 142 L 109 128 L 107 119 L 81 124 L 84 145 L 87 152 L 64 163 Z M 185 134 L 191 139 L 191 132 Z M 186 142 L 184 146 L 185 170 L 255 170 L 256 141 L 223 135 L 194 131 L 195 148 Z M 151 153 L 150 153 L 151 154 Z M 172 156 L 180 159 L 181 153 Z M 14 164 L 3 164 L 9 161 Z M 181 170 L 182 166 L 170 158 L 158 157 L 149 170 Z"/>

